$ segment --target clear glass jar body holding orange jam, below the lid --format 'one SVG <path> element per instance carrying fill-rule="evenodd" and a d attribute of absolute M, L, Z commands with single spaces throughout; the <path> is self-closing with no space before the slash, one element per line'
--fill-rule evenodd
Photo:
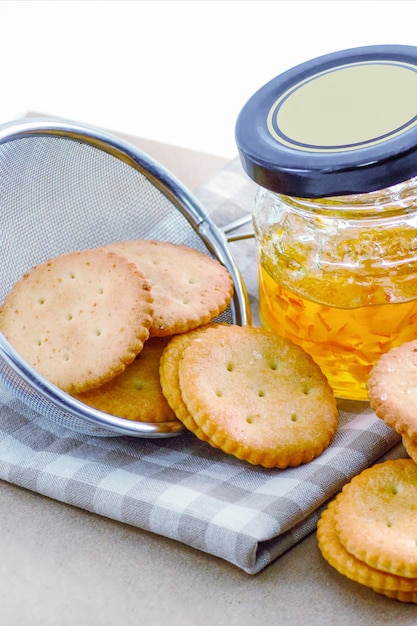
<path fill-rule="evenodd" d="M 381 354 L 417 337 L 417 177 L 314 200 L 259 188 L 254 228 L 262 324 L 366 400 Z"/>

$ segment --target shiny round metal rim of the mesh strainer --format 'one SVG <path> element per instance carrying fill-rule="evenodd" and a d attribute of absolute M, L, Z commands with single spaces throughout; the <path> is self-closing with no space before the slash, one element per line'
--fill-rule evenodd
<path fill-rule="evenodd" d="M 230 303 L 233 323 L 250 323 L 250 306 L 245 285 L 228 247 L 225 233 L 207 215 L 191 191 L 158 161 L 131 143 L 91 125 L 54 118 L 27 118 L 0 125 L 0 145 L 30 136 L 57 136 L 86 143 L 124 161 L 162 192 L 182 213 L 207 249 L 232 276 L 234 295 Z M 16 352 L 0 331 L 0 360 L 20 376 L 47 402 L 76 418 L 116 435 L 138 438 L 173 437 L 186 432 L 179 420 L 169 422 L 137 422 L 104 413 L 83 404 L 62 391 L 32 368 Z M 0 379 L 2 376 L 0 368 Z"/>

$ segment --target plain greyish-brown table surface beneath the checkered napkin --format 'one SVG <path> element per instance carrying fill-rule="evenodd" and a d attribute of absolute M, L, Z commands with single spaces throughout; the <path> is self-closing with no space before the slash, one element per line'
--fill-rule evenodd
<path fill-rule="evenodd" d="M 190 189 L 225 160 L 126 137 Z M 256 576 L 184 544 L 0 481 L 0 625 L 416 624 L 340 576 L 315 534 Z"/>

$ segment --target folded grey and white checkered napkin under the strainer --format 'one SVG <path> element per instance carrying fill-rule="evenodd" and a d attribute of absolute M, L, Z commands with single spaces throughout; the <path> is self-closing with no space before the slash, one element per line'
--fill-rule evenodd
<path fill-rule="evenodd" d="M 196 195 L 224 225 L 251 210 L 254 187 L 232 161 Z M 231 244 L 256 318 L 252 240 Z M 378 459 L 405 456 L 367 403 L 341 401 L 330 447 L 298 468 L 266 470 L 191 433 L 92 437 L 46 420 L 0 387 L 0 478 L 170 537 L 255 574 L 313 531 L 326 502 Z M 398 445 L 397 445 L 398 444 Z"/>

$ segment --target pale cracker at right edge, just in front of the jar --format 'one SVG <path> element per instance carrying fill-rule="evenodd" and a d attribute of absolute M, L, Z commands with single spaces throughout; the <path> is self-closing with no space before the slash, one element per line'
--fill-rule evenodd
<path fill-rule="evenodd" d="M 372 368 L 368 396 L 372 409 L 398 433 L 417 438 L 417 340 L 392 348 Z"/>

